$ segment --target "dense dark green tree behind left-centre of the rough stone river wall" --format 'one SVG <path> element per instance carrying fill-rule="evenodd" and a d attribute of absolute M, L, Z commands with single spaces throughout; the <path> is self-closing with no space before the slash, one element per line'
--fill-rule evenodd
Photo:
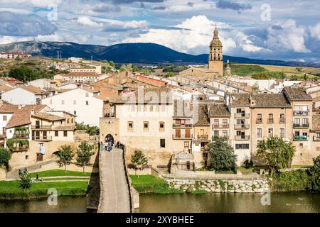
<path fill-rule="evenodd" d="M 237 155 L 233 148 L 228 145 L 225 138 L 215 136 L 208 145 L 209 167 L 211 170 L 235 172 L 235 160 Z"/>

